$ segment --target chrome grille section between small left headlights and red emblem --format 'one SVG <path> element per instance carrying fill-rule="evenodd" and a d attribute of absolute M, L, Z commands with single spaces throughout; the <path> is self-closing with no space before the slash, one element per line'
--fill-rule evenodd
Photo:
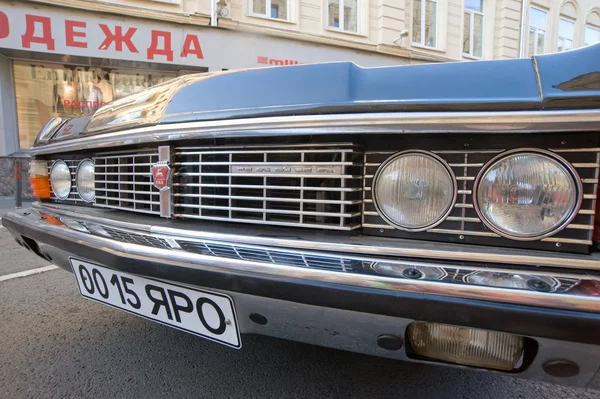
<path fill-rule="evenodd" d="M 93 158 L 96 206 L 160 215 L 159 191 L 150 168 L 158 153 L 114 154 Z"/>

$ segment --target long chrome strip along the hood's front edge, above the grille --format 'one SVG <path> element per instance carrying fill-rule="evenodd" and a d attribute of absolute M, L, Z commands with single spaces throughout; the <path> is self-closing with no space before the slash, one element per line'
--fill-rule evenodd
<path fill-rule="evenodd" d="M 597 131 L 600 110 L 406 112 L 301 115 L 172 123 L 56 142 L 32 155 L 216 137 L 359 133 L 508 133 Z"/>

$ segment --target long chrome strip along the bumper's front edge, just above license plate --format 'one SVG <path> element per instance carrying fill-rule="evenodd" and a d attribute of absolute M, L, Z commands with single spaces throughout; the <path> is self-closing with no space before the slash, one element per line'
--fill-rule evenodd
<path fill-rule="evenodd" d="M 555 309 L 572 309 L 597 312 L 600 309 L 598 297 L 563 295 L 537 291 L 519 291 L 506 288 L 464 286 L 453 283 L 405 280 L 376 275 L 332 272 L 296 266 L 283 266 L 272 263 L 251 262 L 209 255 L 192 254 L 173 249 L 155 248 L 138 244 L 125 244 L 112 239 L 72 230 L 66 226 L 54 226 L 36 216 L 22 216 L 8 213 L 4 216 L 9 223 L 15 223 L 41 234 L 53 235 L 79 246 L 87 246 L 109 252 L 113 255 L 138 261 L 159 261 L 165 265 L 209 270 L 240 276 L 270 276 L 285 279 L 317 280 L 331 284 L 414 292 L 419 294 L 446 297 L 468 298 L 482 301 L 541 306 Z M 326 249 L 323 247 L 322 249 Z"/>

